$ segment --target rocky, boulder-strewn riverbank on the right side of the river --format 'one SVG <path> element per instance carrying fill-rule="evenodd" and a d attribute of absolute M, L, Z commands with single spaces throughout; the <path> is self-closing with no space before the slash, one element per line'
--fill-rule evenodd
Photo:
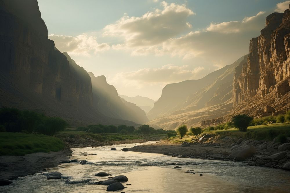
<path fill-rule="evenodd" d="M 273 141 L 233 139 L 225 136 L 204 135 L 191 142 L 172 144 L 168 140 L 135 146 L 129 151 L 160 153 L 168 156 L 224 161 L 242 161 L 249 166 L 265 166 L 290 170 L 290 139 L 280 144 Z"/>

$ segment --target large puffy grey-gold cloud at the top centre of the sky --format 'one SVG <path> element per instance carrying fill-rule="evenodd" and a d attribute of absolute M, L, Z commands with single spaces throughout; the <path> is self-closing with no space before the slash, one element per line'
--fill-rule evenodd
<path fill-rule="evenodd" d="M 189 30 L 186 19 L 194 13 L 175 3 L 161 3 L 163 10 L 155 9 L 141 17 L 124 15 L 104 28 L 104 36 L 122 36 L 127 47 L 152 46 Z"/>

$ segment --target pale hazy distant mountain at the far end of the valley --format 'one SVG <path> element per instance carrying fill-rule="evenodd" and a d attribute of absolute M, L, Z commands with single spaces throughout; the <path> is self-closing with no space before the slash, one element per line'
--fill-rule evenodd
<path fill-rule="evenodd" d="M 126 95 L 119 95 L 121 98 L 125 99 L 128 102 L 134 103 L 139 106 L 145 113 L 148 113 L 154 106 L 155 100 L 152 100 L 148 97 L 135 96 L 128 97 Z"/>

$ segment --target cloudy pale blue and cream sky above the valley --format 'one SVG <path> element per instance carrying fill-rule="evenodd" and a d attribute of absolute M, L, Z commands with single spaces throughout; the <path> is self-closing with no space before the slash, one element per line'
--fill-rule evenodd
<path fill-rule="evenodd" d="M 277 0 L 38 0 L 48 38 L 119 94 L 158 100 L 249 52 Z"/>

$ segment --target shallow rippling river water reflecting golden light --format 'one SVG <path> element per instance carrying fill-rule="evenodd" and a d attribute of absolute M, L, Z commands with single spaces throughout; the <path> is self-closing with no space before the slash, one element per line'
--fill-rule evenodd
<path fill-rule="evenodd" d="M 66 184 L 65 178 L 100 181 L 116 175 L 128 177 L 128 182 L 123 183 L 127 188 L 117 192 L 290 192 L 289 171 L 246 166 L 241 162 L 121 151 L 140 144 L 73 148 L 71 159 L 86 159 L 94 164 L 64 163 L 47 169 L 47 172 L 61 172 L 63 179 L 47 180 L 38 173 L 17 178 L 9 186 L 0 187 L 0 192 L 106 192 L 107 186 Z M 111 147 L 117 151 L 111 151 Z M 180 166 L 183 169 L 173 169 L 171 163 L 186 165 Z M 199 165 L 188 165 L 190 163 Z M 187 170 L 194 170 L 196 174 L 184 173 Z M 107 172 L 110 176 L 97 177 L 94 175 L 97 172 Z"/>

